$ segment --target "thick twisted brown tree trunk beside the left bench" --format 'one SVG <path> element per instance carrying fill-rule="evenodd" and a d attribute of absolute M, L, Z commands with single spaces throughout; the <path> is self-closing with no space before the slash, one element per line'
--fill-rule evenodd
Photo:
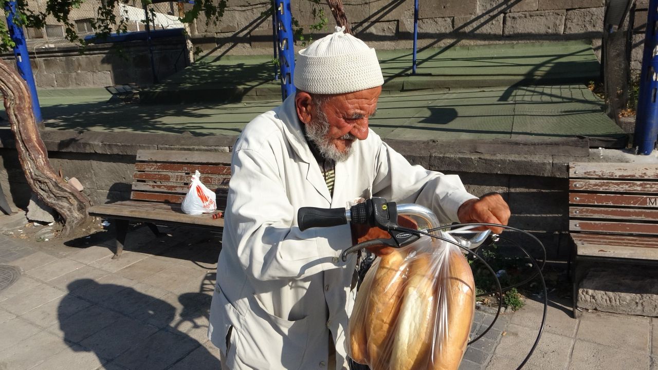
<path fill-rule="evenodd" d="M 32 112 L 32 97 L 18 72 L 0 61 L 0 92 L 16 139 L 20 167 L 32 191 L 64 219 L 63 235 L 87 226 L 89 199 L 60 178 L 50 166 L 48 152 Z"/>

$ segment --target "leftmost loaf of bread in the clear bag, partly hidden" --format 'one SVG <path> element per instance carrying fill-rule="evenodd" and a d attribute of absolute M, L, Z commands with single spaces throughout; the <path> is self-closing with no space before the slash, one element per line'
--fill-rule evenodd
<path fill-rule="evenodd" d="M 357 302 L 355 302 L 352 309 L 352 317 L 355 317 L 355 319 L 350 320 L 347 326 L 347 330 L 349 331 L 349 357 L 364 365 L 370 361 L 370 356 L 368 356 L 368 341 L 366 338 L 367 321 L 363 317 L 374 275 L 375 270 L 370 269 L 365 278 L 363 278 L 363 282 L 359 288 L 359 294 L 357 294 Z"/>

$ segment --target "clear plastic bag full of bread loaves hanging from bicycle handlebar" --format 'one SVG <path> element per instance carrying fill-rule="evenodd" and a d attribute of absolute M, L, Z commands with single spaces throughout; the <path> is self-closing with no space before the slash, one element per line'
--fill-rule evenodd
<path fill-rule="evenodd" d="M 456 370 L 474 311 L 475 282 L 460 248 L 422 236 L 378 258 L 366 274 L 347 354 L 372 370 Z"/>

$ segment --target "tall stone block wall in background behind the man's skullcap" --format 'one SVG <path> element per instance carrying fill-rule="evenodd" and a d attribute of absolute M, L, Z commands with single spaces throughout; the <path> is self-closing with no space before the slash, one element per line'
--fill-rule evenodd
<path fill-rule="evenodd" d="M 378 49 L 411 48 L 413 0 L 344 1 L 345 13 L 357 36 Z M 334 20 L 321 1 L 292 1 L 293 17 L 308 30 L 313 7 L 322 9 L 330 32 Z M 443 45 L 601 38 L 603 0 L 462 0 L 437 3 L 420 0 L 419 47 Z M 217 26 L 203 19 L 193 29 L 195 45 L 205 53 L 271 53 L 272 20 L 268 3 L 229 3 Z M 265 12 L 265 13 L 264 13 Z M 317 13 L 316 13 L 317 14 Z M 301 43 L 296 45 L 301 47 Z"/>

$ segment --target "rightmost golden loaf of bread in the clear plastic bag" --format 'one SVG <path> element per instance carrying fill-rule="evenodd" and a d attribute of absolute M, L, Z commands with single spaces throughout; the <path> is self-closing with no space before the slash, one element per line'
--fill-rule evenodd
<path fill-rule="evenodd" d="M 475 313 L 475 281 L 461 251 L 451 248 L 447 284 L 447 334 L 436 338 L 430 370 L 457 370 L 468 344 Z M 441 340 L 441 342 L 439 342 Z"/>

